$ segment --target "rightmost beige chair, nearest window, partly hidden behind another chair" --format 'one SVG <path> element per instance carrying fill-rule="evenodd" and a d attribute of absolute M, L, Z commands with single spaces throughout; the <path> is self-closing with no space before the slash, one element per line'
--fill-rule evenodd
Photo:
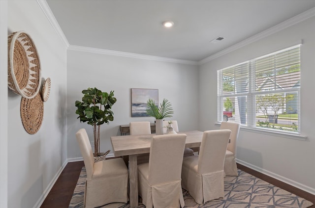
<path fill-rule="evenodd" d="M 230 143 L 227 145 L 227 150 L 225 153 L 224 161 L 224 173 L 225 175 L 235 175 L 237 176 L 237 166 L 235 160 L 236 153 L 236 142 L 238 138 L 238 133 L 240 131 L 240 123 L 222 121 L 220 129 L 231 130 Z"/>

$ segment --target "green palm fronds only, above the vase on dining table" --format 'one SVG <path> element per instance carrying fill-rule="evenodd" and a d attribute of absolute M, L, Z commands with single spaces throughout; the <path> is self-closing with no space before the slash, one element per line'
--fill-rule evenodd
<path fill-rule="evenodd" d="M 155 104 L 154 100 L 149 99 L 147 101 L 146 111 L 149 116 L 153 116 L 156 119 L 172 117 L 171 114 L 174 113 L 172 104 L 165 98 L 163 99 L 163 102 L 160 104 L 159 107 Z"/>

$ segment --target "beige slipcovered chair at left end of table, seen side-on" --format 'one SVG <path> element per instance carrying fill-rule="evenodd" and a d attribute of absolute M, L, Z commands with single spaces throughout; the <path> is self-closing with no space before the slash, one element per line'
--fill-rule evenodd
<path fill-rule="evenodd" d="M 95 208 L 108 203 L 127 203 L 128 169 L 122 158 L 94 162 L 87 132 L 80 129 L 75 134 L 87 172 L 84 192 L 85 208 Z"/>

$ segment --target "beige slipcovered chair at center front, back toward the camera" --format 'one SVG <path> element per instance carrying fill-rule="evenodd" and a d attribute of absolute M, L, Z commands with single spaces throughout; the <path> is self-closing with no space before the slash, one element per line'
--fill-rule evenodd
<path fill-rule="evenodd" d="M 153 136 L 149 163 L 138 165 L 139 195 L 147 208 L 183 208 L 185 134 Z"/>

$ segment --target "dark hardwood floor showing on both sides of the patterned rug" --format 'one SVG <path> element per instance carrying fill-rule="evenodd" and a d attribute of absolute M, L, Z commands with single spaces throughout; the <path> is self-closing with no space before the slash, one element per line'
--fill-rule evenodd
<path fill-rule="evenodd" d="M 73 190 L 78 181 L 79 174 L 83 166 L 83 161 L 68 163 L 40 208 L 68 208 Z M 315 196 L 308 192 L 295 188 L 262 173 L 256 172 L 243 165 L 237 164 L 237 167 L 242 171 L 250 173 L 315 204 Z M 315 208 L 315 206 L 313 205 L 310 208 Z"/>

